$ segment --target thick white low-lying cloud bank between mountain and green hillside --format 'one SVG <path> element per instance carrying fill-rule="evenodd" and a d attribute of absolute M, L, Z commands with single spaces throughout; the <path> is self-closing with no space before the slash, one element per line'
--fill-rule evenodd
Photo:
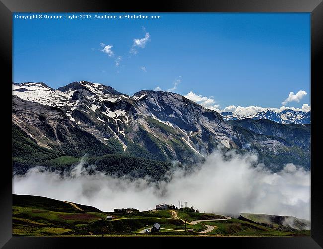
<path fill-rule="evenodd" d="M 183 200 L 200 212 L 265 213 L 310 219 L 309 171 L 286 164 L 283 170 L 272 173 L 257 163 L 256 155 L 242 156 L 235 151 L 226 156 L 215 151 L 193 172 L 175 170 L 169 181 L 158 183 L 148 178 L 116 178 L 98 171 L 89 174 L 83 161 L 63 175 L 37 167 L 24 176 L 14 176 L 13 192 L 72 201 L 103 211 L 123 207 L 148 210 L 157 203 L 176 205 Z"/>

